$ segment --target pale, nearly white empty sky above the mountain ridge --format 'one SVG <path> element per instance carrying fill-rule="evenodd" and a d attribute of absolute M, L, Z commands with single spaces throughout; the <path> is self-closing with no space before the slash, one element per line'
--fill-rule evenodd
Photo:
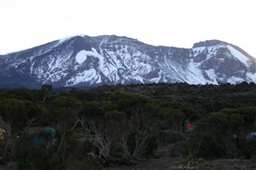
<path fill-rule="evenodd" d="M 0 0 L 0 54 L 77 34 L 191 48 L 218 39 L 256 57 L 255 0 Z"/>

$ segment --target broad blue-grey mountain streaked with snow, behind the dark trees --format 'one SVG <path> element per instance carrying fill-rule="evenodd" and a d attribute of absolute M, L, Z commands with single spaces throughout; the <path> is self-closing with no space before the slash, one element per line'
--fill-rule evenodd
<path fill-rule="evenodd" d="M 242 81 L 256 82 L 256 60 L 218 40 L 184 49 L 115 35 L 81 35 L 0 56 L 1 88 Z"/>

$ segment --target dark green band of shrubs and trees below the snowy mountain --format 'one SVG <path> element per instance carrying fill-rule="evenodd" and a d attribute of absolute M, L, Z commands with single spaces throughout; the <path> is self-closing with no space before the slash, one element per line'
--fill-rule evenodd
<path fill-rule="evenodd" d="M 154 157 L 246 158 L 256 127 L 256 85 L 103 85 L 95 89 L 1 89 L 0 165 L 101 169 Z M 187 132 L 184 121 L 192 128 Z M 54 128 L 56 135 L 40 131 Z M 43 144 L 35 144 L 41 135 Z"/>

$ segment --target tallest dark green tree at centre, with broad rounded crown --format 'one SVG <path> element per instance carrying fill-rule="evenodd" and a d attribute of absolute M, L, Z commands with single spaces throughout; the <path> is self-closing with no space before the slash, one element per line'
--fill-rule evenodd
<path fill-rule="evenodd" d="M 129 159 L 136 158 L 146 147 L 150 132 L 154 131 L 156 107 L 148 97 L 135 93 L 110 93 L 110 101 L 126 114 L 129 135 L 123 137 L 124 152 Z M 130 153 L 130 154 L 128 154 Z"/>

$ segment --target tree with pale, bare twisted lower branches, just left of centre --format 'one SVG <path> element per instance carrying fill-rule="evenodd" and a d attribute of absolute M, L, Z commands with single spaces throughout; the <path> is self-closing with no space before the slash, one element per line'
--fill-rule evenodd
<path fill-rule="evenodd" d="M 77 122 L 82 124 L 86 133 L 89 135 L 90 142 L 98 149 L 96 156 L 103 163 L 110 163 L 110 146 L 113 142 L 114 133 L 111 132 L 112 125 L 109 124 L 107 114 L 102 111 L 102 105 L 99 101 L 88 101 L 82 105 L 79 111 Z M 110 126 L 110 127 L 109 127 Z"/>

